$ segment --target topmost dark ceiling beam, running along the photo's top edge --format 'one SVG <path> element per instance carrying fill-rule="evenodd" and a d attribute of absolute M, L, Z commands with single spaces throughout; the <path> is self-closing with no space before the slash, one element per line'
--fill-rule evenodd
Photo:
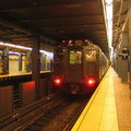
<path fill-rule="evenodd" d="M 9 2 L 9 1 L 7 1 L 7 2 Z M 1 5 L 3 4 L 3 5 L 7 5 L 7 2 L 5 2 L 5 0 L 4 1 L 2 1 L 2 3 L 1 3 Z M 27 1 L 25 2 L 25 4 L 24 4 L 24 2 L 22 2 L 22 3 L 20 3 L 21 1 L 16 1 L 16 2 L 12 2 L 12 3 L 10 3 L 10 5 L 8 7 L 8 8 L 5 8 L 5 7 L 3 7 L 3 9 L 1 8 L 1 10 L 0 10 L 0 12 L 7 12 L 7 11 L 19 11 L 19 10 L 31 10 L 31 9 L 36 9 L 36 8 L 47 8 L 47 7 L 60 7 L 60 5 L 72 5 L 72 7 L 76 7 L 76 5 L 81 5 L 81 4 L 90 4 L 90 3 L 93 3 L 93 2 L 95 2 L 95 3 L 97 3 L 97 0 L 66 0 L 66 1 L 60 1 L 60 0 L 52 0 L 52 1 L 49 1 L 49 0 L 47 0 L 47 1 L 44 1 L 44 0 L 41 0 L 41 1 L 33 1 L 33 2 L 28 2 L 27 3 Z"/>

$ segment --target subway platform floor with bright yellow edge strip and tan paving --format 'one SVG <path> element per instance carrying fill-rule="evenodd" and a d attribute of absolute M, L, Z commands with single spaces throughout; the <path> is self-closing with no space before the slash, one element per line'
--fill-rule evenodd
<path fill-rule="evenodd" d="M 111 67 L 71 131 L 131 131 L 131 90 Z"/>

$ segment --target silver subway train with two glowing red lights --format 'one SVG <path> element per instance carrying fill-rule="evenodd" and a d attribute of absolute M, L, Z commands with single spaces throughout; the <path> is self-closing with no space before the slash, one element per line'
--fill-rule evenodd
<path fill-rule="evenodd" d="M 88 39 L 64 41 L 55 48 L 53 90 L 68 94 L 93 93 L 108 69 L 108 59 Z"/>

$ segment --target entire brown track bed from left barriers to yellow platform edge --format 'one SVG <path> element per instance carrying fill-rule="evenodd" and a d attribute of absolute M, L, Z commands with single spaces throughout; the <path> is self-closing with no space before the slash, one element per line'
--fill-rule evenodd
<path fill-rule="evenodd" d="M 56 94 L 0 121 L 0 131 L 70 131 L 86 103 Z"/>

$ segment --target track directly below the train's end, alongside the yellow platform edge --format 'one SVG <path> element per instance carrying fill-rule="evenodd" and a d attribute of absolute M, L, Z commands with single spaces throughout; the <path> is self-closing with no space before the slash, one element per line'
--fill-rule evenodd
<path fill-rule="evenodd" d="M 80 98 L 80 97 L 79 97 Z M 24 131 L 71 131 L 88 98 L 69 97 L 60 105 L 34 121 Z"/>

